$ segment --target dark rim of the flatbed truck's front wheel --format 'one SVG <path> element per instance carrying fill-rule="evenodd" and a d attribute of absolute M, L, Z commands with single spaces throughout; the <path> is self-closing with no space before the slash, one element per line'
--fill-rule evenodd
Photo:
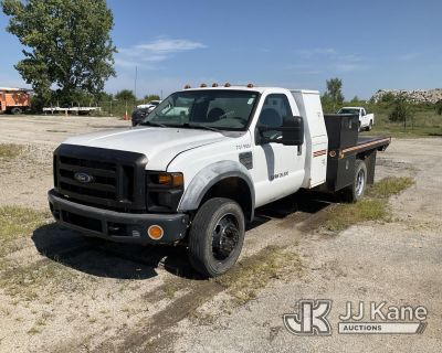
<path fill-rule="evenodd" d="M 217 260 L 225 260 L 240 240 L 238 220 L 233 214 L 223 215 L 213 228 L 212 254 Z"/>

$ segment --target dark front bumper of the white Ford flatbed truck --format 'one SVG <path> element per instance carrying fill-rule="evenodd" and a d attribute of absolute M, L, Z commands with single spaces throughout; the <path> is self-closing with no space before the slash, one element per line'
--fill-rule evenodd
<path fill-rule="evenodd" d="M 186 236 L 188 216 L 176 214 L 120 213 L 86 206 L 62 197 L 55 190 L 48 193 L 54 218 L 62 225 L 85 235 L 134 244 L 171 244 Z M 148 236 L 147 229 L 158 225 L 164 229 L 160 239 Z"/>

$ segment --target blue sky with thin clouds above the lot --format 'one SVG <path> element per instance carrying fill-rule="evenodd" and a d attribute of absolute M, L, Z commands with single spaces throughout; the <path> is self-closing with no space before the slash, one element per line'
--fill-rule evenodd
<path fill-rule="evenodd" d="M 347 98 L 378 88 L 442 87 L 442 1 L 109 0 L 119 53 L 108 92 L 169 94 L 187 83 L 252 82 Z M 24 86 L 21 45 L 0 14 L 0 86 Z"/>

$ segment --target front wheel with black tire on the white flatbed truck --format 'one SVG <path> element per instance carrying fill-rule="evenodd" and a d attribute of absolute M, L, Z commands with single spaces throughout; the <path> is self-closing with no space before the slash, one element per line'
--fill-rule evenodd
<path fill-rule="evenodd" d="M 189 234 L 189 260 L 203 276 L 227 272 L 236 263 L 244 243 L 244 213 L 224 197 L 208 200 L 197 212 Z"/>

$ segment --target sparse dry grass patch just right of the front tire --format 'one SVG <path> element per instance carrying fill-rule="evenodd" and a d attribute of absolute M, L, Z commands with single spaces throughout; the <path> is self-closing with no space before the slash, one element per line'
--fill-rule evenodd
<path fill-rule="evenodd" d="M 269 246 L 256 255 L 239 263 L 214 281 L 227 288 L 238 304 L 254 299 L 259 291 L 275 278 L 299 272 L 302 264 L 297 253 L 277 246 Z"/>

